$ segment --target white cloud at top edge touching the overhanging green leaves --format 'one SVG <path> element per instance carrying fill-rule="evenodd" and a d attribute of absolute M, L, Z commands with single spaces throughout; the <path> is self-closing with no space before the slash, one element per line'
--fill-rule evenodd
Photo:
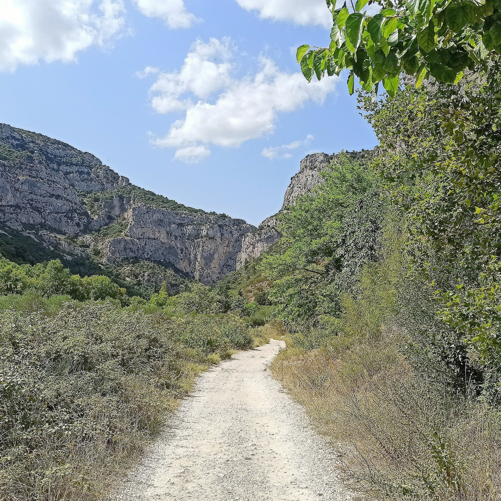
<path fill-rule="evenodd" d="M 247 11 L 259 11 L 263 19 L 297 25 L 332 27 L 332 14 L 325 0 L 236 0 Z"/>

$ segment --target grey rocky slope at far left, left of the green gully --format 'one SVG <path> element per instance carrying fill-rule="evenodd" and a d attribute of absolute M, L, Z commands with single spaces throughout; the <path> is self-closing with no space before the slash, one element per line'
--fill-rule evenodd
<path fill-rule="evenodd" d="M 129 184 L 90 153 L 0 125 L 0 220 L 14 229 L 43 227 L 76 235 L 91 219 L 79 191 Z"/>

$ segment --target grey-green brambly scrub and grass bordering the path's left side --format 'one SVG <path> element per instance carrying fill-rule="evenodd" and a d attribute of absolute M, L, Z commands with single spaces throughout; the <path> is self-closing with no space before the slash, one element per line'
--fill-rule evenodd
<path fill-rule="evenodd" d="M 0 314 L 2 501 L 98 499 L 195 375 L 254 343 L 231 316 L 172 320 L 111 304 L 9 301 Z"/>

